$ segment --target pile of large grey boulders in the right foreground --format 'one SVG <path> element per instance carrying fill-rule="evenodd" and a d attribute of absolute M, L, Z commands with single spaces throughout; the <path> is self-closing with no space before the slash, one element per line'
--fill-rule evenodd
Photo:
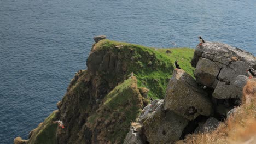
<path fill-rule="evenodd" d="M 165 99 L 144 107 L 124 143 L 174 143 L 216 129 L 240 105 L 247 70 L 255 64 L 251 53 L 226 44 L 197 45 L 191 60 L 195 79 L 174 70 Z"/>

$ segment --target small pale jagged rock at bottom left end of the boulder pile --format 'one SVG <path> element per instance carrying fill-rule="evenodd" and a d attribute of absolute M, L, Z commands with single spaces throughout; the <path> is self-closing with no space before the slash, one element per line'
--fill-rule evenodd
<path fill-rule="evenodd" d="M 145 140 L 141 136 L 141 127 L 140 123 L 132 123 L 129 133 L 127 133 L 124 144 L 143 144 Z"/>

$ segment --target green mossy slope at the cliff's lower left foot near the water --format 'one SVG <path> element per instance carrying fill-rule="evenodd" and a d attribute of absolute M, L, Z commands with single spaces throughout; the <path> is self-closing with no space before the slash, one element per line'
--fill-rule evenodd
<path fill-rule="evenodd" d="M 53 123 L 55 121 L 57 111 L 51 113 L 43 123 L 39 124 L 36 129 L 33 130 L 28 143 L 44 144 L 44 143 L 57 143 L 56 130 L 58 124 Z"/>

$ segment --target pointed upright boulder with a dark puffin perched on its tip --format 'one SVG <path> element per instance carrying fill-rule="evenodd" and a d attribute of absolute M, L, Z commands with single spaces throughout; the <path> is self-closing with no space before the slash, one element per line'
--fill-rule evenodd
<path fill-rule="evenodd" d="M 164 108 L 189 120 L 199 115 L 210 116 L 213 112 L 207 93 L 182 69 L 173 71 L 166 90 Z"/>

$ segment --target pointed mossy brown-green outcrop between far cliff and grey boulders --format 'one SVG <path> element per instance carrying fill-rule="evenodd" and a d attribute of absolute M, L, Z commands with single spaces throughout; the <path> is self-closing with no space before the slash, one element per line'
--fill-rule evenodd
<path fill-rule="evenodd" d="M 125 80 L 103 101 L 100 109 L 88 118 L 88 125 L 100 129 L 98 139 L 102 137 L 106 143 L 123 143 L 131 122 L 135 121 L 143 105 L 136 78 Z"/>

